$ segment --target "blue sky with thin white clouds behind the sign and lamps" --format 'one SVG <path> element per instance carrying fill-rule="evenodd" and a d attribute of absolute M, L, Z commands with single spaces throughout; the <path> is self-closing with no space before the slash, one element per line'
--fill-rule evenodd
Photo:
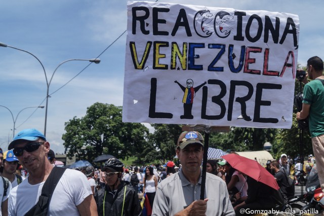
<path fill-rule="evenodd" d="M 297 14 L 298 62 L 306 65 L 311 56 L 324 57 L 321 0 L 311 4 L 296 0 L 159 2 Z M 95 102 L 123 104 L 126 10 L 125 0 L 26 0 L 1 4 L 0 42 L 36 56 L 44 65 L 48 81 L 65 60 L 101 59 L 100 64 L 88 67 L 88 61 L 66 62 L 53 76 L 46 135 L 55 152 L 64 152 L 61 137 L 65 122 L 74 116 L 83 117 L 87 107 Z M 45 109 L 25 108 L 45 105 L 47 84 L 42 65 L 32 55 L 0 47 L 0 56 L 0 147 L 6 149 L 13 136 L 14 121 L 15 133 L 31 127 L 44 131 Z M 12 112 L 14 119 L 2 106 Z"/>

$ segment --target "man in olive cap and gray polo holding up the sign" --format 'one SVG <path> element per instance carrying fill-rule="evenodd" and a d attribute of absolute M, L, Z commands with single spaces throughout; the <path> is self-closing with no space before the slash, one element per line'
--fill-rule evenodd
<path fill-rule="evenodd" d="M 205 199 L 200 199 L 204 138 L 199 132 L 180 134 L 176 154 L 179 172 L 164 179 L 156 189 L 152 215 L 235 215 L 225 182 L 206 173 Z"/>

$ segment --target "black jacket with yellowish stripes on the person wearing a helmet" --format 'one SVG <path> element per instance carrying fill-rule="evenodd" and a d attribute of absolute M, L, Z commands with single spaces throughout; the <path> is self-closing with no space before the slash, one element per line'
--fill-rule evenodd
<path fill-rule="evenodd" d="M 135 192 L 133 187 L 129 185 L 129 183 L 121 181 L 115 196 L 111 192 L 112 191 L 108 185 L 105 185 L 104 188 L 97 192 L 96 202 L 99 215 L 120 216 L 122 211 L 123 216 L 142 215 L 142 208 L 138 199 L 138 194 Z M 105 202 L 105 209 L 103 209 L 103 202 Z"/>

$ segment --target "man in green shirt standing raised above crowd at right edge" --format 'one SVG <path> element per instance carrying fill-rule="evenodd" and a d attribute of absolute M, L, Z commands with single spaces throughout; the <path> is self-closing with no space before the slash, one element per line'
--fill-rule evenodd
<path fill-rule="evenodd" d="M 300 113 L 296 114 L 297 120 L 309 117 L 309 131 L 312 137 L 313 152 L 316 158 L 319 182 L 324 191 L 324 86 L 321 80 L 323 76 L 323 61 L 317 57 L 311 57 L 307 61 L 308 77 L 313 81 L 306 83 L 304 78 L 303 106 Z"/>

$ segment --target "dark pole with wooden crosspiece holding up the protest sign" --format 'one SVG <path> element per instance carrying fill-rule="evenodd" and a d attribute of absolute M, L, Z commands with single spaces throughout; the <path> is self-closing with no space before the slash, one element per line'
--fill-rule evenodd
<path fill-rule="evenodd" d="M 210 132 L 223 132 L 228 133 L 228 126 L 207 126 L 207 125 L 184 125 L 182 126 L 183 131 L 204 131 L 205 141 L 204 141 L 204 156 L 203 156 L 203 170 L 201 171 L 201 189 L 200 189 L 200 199 L 205 199 L 205 188 L 206 188 L 206 168 L 208 159 L 208 149 L 209 149 L 209 134 Z"/>

